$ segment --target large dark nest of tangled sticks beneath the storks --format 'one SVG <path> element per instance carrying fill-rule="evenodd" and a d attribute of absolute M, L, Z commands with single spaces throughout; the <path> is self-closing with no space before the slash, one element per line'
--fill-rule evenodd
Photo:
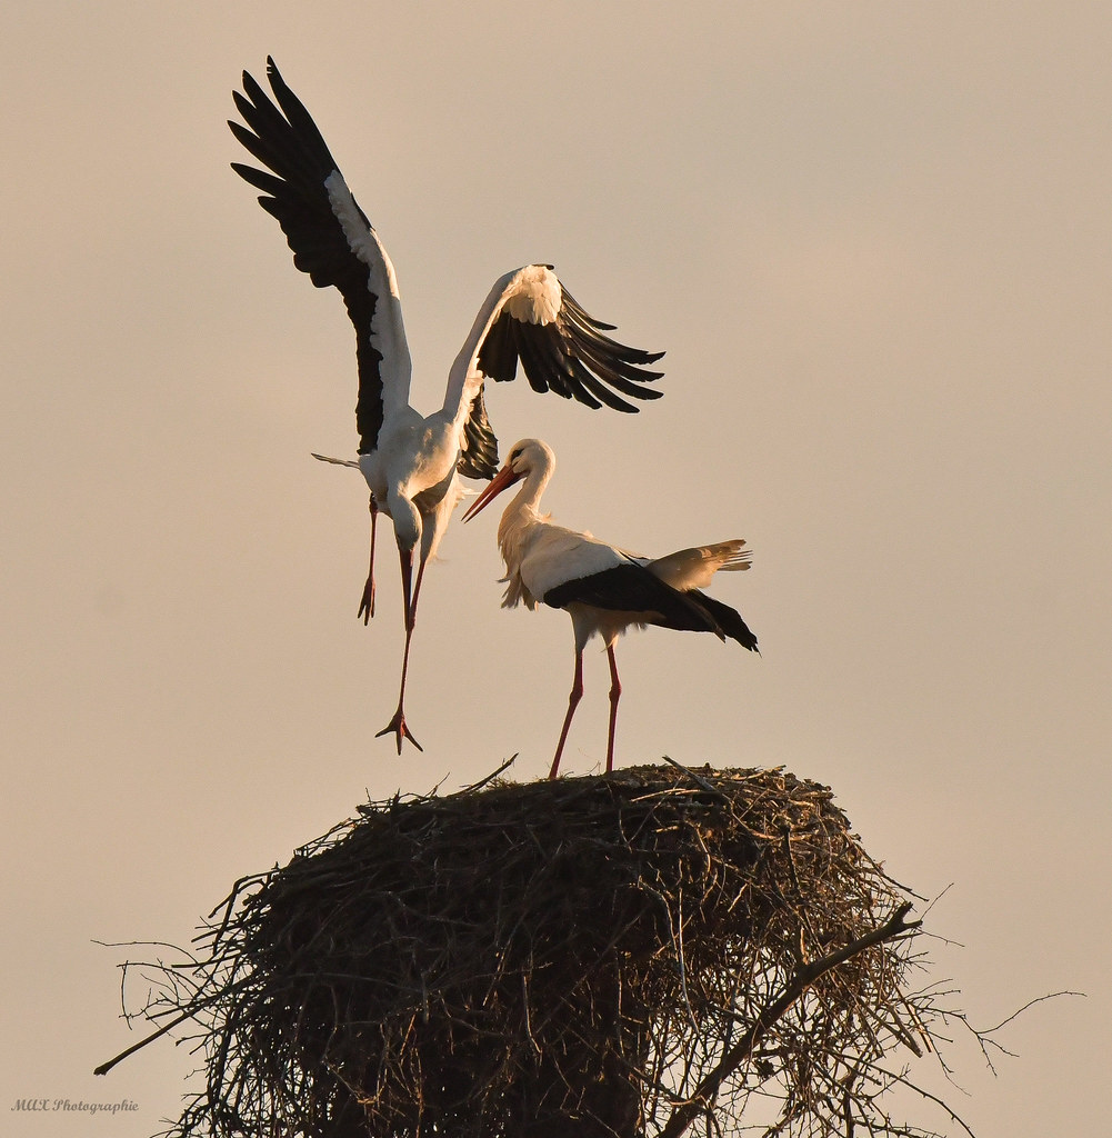
<path fill-rule="evenodd" d="M 642 767 L 359 815 L 161 970 L 143 1011 L 207 1075 L 173 1133 L 913 1132 L 874 1104 L 928 1039 L 910 898 L 827 787 Z"/>

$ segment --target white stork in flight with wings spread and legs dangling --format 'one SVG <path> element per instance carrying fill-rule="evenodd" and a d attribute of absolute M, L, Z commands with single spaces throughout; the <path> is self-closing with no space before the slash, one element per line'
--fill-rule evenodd
<path fill-rule="evenodd" d="M 276 105 L 243 73 L 233 92 L 241 123 L 229 122 L 235 138 L 271 173 L 233 163 L 232 168 L 263 191 L 263 208 L 277 218 L 293 250 L 293 264 L 317 288 L 340 290 L 355 324 L 359 394 L 357 465 L 371 490 L 371 563 L 358 616 L 374 615 L 375 521 L 393 521 L 401 561 L 406 646 L 398 709 L 380 735 L 421 744 L 406 725 L 404 701 L 409 644 L 425 564 L 459 502 L 459 476 L 491 478 L 498 442 L 487 419 L 483 384 L 512 380 L 517 361 L 537 391 L 555 391 L 590 407 L 638 409 L 622 396 L 653 399 L 646 384 L 661 377 L 646 364 L 663 352 L 642 352 L 611 339 L 613 324 L 595 320 L 561 284 L 551 265 L 525 265 L 495 281 L 471 333 L 448 373 L 443 406 L 422 415 L 409 406 L 410 360 L 393 265 L 298 97 L 267 57 Z M 316 457 L 322 457 L 316 455 Z M 413 580 L 417 560 L 416 582 Z"/>

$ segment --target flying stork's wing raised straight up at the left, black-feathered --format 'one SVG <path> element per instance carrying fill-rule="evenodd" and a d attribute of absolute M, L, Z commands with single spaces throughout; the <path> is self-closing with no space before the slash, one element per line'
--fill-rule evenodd
<path fill-rule="evenodd" d="M 263 191 L 259 205 L 282 226 L 293 264 L 317 288 L 334 286 L 355 324 L 359 395 L 359 452 L 373 451 L 384 415 L 409 396 L 409 351 L 393 266 L 374 228 L 351 197 L 313 117 L 289 89 L 274 60 L 266 74 L 273 101 L 243 73 L 243 94 L 233 98 L 242 123 L 232 133 L 271 173 L 233 163 Z M 250 127 L 250 130 L 248 130 Z"/>

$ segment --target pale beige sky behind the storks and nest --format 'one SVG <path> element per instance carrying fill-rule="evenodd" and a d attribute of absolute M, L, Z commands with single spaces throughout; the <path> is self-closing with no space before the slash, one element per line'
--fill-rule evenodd
<path fill-rule="evenodd" d="M 918 1074 L 981 1138 L 1107 1132 L 1112 8 L 1104 3 L 7 3 L 0 1116 L 142 1138 L 184 1049 L 100 940 L 185 942 L 370 794 L 541 776 L 564 613 L 501 611 L 496 510 L 355 611 L 354 338 L 230 170 L 273 52 L 398 269 L 429 411 L 491 281 L 550 261 L 663 348 L 637 417 L 501 386 L 546 502 L 646 553 L 748 538 L 761 638 L 626 638 L 619 765 L 787 765 L 928 897 L 998 1075 Z M 521 388 L 521 389 L 517 389 Z M 388 530 L 385 533 L 389 533 Z M 605 657 L 565 753 L 605 756 Z M 27 1115 L 17 1098 L 126 1118 Z M 926 1105 L 903 1112 L 947 1129 Z M 951 1128 L 954 1130 L 954 1128 Z"/>

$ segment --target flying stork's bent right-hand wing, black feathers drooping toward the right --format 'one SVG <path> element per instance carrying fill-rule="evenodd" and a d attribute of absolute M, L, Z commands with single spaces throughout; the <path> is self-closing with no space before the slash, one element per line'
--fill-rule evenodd
<path fill-rule="evenodd" d="M 445 401 L 447 414 L 467 415 L 460 472 L 472 478 L 497 472 L 498 443 L 483 407 L 483 382 L 514 379 L 518 361 L 534 391 L 555 391 L 589 407 L 634 412 L 623 396 L 659 398 L 663 393 L 647 385 L 664 373 L 647 364 L 664 353 L 620 344 L 606 335 L 613 330 L 586 312 L 551 265 L 523 265 L 495 281 L 453 365 Z"/>

